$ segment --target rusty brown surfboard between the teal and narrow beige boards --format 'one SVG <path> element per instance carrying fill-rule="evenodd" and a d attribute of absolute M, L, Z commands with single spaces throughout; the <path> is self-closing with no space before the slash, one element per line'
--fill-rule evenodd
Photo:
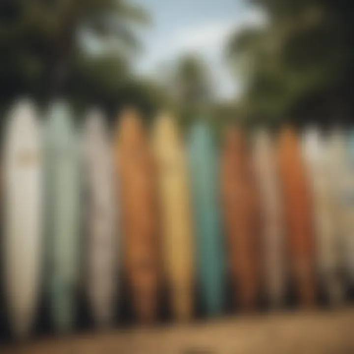
<path fill-rule="evenodd" d="M 229 126 L 221 154 L 221 200 L 228 259 L 241 310 L 254 310 L 260 290 L 259 204 L 243 131 Z"/>

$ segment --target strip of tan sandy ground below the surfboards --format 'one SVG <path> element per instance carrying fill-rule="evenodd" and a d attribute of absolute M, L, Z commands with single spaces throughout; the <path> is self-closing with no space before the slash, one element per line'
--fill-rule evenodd
<path fill-rule="evenodd" d="M 2 346 L 2 354 L 354 353 L 354 308 L 242 315 Z"/>

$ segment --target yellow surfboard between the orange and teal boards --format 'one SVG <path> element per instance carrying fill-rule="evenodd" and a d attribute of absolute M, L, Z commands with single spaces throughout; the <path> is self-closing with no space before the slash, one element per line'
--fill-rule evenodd
<path fill-rule="evenodd" d="M 187 159 L 176 120 L 160 115 L 153 129 L 162 254 L 177 320 L 193 310 L 194 245 Z"/>

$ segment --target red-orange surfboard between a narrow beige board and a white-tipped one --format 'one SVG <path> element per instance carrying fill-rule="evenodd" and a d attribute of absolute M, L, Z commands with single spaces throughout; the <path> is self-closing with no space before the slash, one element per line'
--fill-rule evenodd
<path fill-rule="evenodd" d="M 300 305 L 311 306 L 316 298 L 312 201 L 301 143 L 291 126 L 283 127 L 280 132 L 278 159 L 288 235 L 290 275 Z"/>

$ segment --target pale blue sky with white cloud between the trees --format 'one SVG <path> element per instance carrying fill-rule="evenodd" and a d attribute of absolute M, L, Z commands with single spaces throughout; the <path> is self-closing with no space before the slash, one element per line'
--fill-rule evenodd
<path fill-rule="evenodd" d="M 135 0 L 152 25 L 141 32 L 144 51 L 135 63 L 139 73 L 161 74 L 162 64 L 198 53 L 210 68 L 217 97 L 237 96 L 241 87 L 228 67 L 224 49 L 230 33 L 262 23 L 263 16 L 243 0 Z"/>

